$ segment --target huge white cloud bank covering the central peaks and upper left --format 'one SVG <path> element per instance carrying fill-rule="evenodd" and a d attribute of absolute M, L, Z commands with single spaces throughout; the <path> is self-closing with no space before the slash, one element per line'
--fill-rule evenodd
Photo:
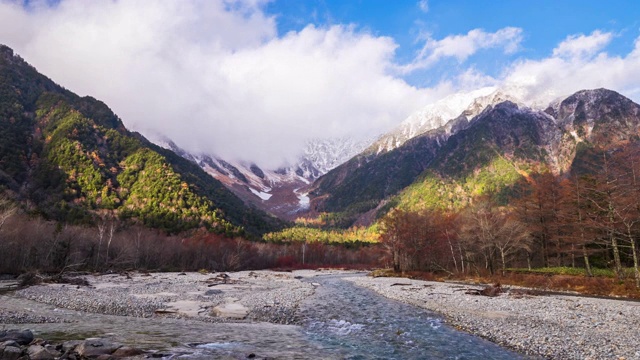
<path fill-rule="evenodd" d="M 274 167 L 309 138 L 370 136 L 451 91 L 389 75 L 395 42 L 351 27 L 279 38 L 264 1 L 0 2 L 0 39 L 191 151 Z"/>

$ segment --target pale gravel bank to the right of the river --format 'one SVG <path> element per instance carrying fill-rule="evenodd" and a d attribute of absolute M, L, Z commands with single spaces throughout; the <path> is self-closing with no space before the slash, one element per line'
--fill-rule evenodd
<path fill-rule="evenodd" d="M 551 359 L 640 359 L 640 303 L 509 291 L 406 278 L 351 277 L 383 296 L 443 314 L 448 322 L 520 353 Z"/>

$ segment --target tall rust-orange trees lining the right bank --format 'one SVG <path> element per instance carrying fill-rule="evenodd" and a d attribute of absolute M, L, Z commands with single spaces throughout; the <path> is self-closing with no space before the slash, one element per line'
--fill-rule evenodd
<path fill-rule="evenodd" d="M 499 204 L 462 210 L 396 208 L 380 220 L 396 271 L 504 272 L 510 267 L 610 268 L 640 287 L 640 148 L 581 154 L 572 173 L 529 174 Z"/>

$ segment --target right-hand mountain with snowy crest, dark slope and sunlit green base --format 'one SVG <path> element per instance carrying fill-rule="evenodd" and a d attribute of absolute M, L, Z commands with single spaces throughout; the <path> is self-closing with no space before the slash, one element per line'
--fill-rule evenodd
<path fill-rule="evenodd" d="M 476 99 L 437 129 L 390 151 L 371 148 L 319 178 L 312 209 L 348 226 L 394 206 L 505 202 L 532 171 L 570 172 L 588 149 L 624 146 L 640 135 L 639 105 L 606 89 L 584 90 L 543 110 L 499 92 Z"/>

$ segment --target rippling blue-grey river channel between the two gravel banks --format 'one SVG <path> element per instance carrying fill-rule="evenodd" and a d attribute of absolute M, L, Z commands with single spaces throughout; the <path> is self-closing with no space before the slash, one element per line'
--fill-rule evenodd
<path fill-rule="evenodd" d="M 323 276 L 302 307 L 314 347 L 342 359 L 524 359 L 448 326 L 441 316 Z"/>

